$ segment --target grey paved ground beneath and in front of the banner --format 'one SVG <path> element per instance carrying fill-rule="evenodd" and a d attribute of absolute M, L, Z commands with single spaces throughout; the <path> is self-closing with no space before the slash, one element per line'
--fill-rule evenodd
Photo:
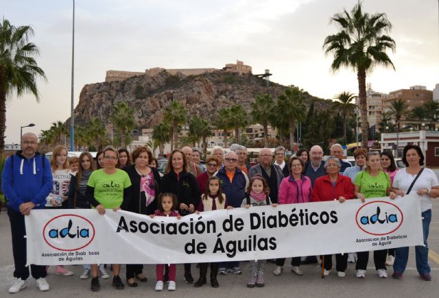
<path fill-rule="evenodd" d="M 0 213 L 0 297 L 12 297 L 8 294 L 8 288 L 13 282 L 12 273 L 13 258 L 10 240 L 10 224 L 8 215 L 5 210 Z M 49 270 L 47 280 L 51 286 L 48 292 L 40 292 L 36 288 L 35 280 L 27 280 L 27 288 L 22 290 L 17 297 L 439 297 L 439 199 L 434 201 L 433 219 L 430 225 L 429 247 L 433 253 L 429 264 L 432 268 L 432 282 L 423 282 L 419 279 L 414 264 L 414 250 L 410 251 L 410 260 L 407 271 L 403 280 L 380 280 L 375 274 L 373 260 L 369 260 L 368 275 L 364 280 L 355 278 L 355 264 L 348 264 L 345 278 L 337 277 L 333 271 L 331 275 L 324 280 L 320 277 L 320 268 L 316 265 L 302 266 L 304 275 L 299 277 L 289 271 L 289 266 L 285 266 L 285 271 L 281 276 L 274 276 L 272 271 L 274 264 L 266 264 L 265 269 L 265 287 L 264 288 L 246 288 L 248 279 L 247 263 L 242 266 L 242 275 L 225 275 L 219 276 L 219 288 L 211 288 L 205 285 L 202 288 L 194 288 L 193 285 L 187 285 L 182 282 L 182 265 L 177 269 L 177 290 L 175 293 L 169 293 L 166 290 L 162 293 L 154 291 L 155 270 L 154 266 L 146 266 L 144 271 L 148 277 L 146 284 L 140 284 L 138 288 L 128 288 L 117 291 L 112 289 L 110 280 L 101 280 L 101 290 L 98 293 L 92 293 L 89 290 L 90 280 L 80 280 L 79 275 L 82 273 L 82 266 L 69 266 L 69 269 L 75 273 L 73 276 L 64 277 L 55 275 L 53 268 Z M 436 253 L 434 253 L 436 252 Z M 371 254 L 372 256 L 372 254 Z M 288 264 L 287 260 L 286 264 Z M 193 276 L 198 277 L 198 269 L 193 267 Z M 392 269 L 389 269 L 392 273 Z M 125 269 L 123 268 L 121 277 L 124 277 Z M 125 279 L 123 278 L 123 282 Z"/>

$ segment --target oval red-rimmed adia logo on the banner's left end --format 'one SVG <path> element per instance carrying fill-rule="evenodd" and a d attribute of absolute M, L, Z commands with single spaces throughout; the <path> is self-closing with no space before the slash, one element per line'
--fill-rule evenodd
<path fill-rule="evenodd" d="M 85 217 L 76 214 L 56 216 L 46 223 L 43 238 L 47 245 L 60 251 L 76 251 L 95 238 L 95 227 Z"/>

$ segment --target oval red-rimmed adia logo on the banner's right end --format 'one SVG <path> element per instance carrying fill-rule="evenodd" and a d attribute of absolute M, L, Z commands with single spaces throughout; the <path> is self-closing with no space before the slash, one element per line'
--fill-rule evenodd
<path fill-rule="evenodd" d="M 398 206 L 386 201 L 365 203 L 355 215 L 355 221 L 364 232 L 382 236 L 395 232 L 403 223 L 404 216 Z"/>

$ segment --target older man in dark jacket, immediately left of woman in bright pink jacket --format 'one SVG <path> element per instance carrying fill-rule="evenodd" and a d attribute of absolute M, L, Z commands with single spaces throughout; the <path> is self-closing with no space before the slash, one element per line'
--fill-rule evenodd
<path fill-rule="evenodd" d="M 252 179 L 254 175 L 262 176 L 270 187 L 272 203 L 277 203 L 279 186 L 284 177 L 281 168 L 278 165 L 272 164 L 272 160 L 272 151 L 268 148 L 262 148 L 259 151 L 259 164 L 250 168 L 248 178 Z"/>

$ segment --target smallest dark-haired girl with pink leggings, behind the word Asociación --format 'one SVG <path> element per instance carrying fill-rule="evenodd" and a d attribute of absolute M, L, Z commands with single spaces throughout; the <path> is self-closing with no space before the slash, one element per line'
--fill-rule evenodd
<path fill-rule="evenodd" d="M 177 216 L 177 219 L 181 219 L 180 214 L 176 210 L 177 197 L 173 193 L 161 193 L 158 196 L 157 206 L 158 210 L 150 215 L 152 219 L 154 216 Z M 163 290 L 163 269 L 165 269 L 165 264 L 156 265 L 156 290 Z M 176 290 L 176 264 L 169 265 L 169 284 L 167 290 Z"/>

